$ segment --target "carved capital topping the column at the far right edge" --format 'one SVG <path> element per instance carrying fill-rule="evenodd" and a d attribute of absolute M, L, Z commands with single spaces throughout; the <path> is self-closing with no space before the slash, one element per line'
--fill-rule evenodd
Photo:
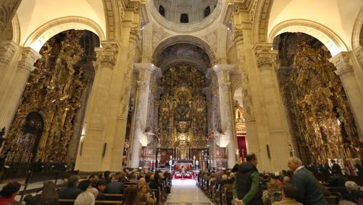
<path fill-rule="evenodd" d="M 329 59 L 329 61 L 337 68 L 335 74 L 342 76 L 343 74 L 352 73 L 354 71 L 352 64 L 349 63 L 350 57 L 351 52 L 342 51 Z"/>

